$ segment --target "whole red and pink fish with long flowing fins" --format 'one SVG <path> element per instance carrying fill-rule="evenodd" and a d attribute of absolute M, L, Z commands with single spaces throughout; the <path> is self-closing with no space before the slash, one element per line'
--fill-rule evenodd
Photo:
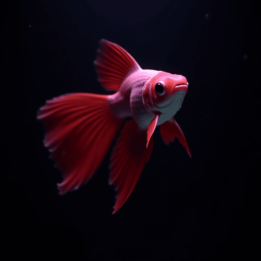
<path fill-rule="evenodd" d="M 168 145 L 177 137 L 191 153 L 174 115 L 188 90 L 182 75 L 143 70 L 123 48 L 100 40 L 94 66 L 98 81 L 112 95 L 68 93 L 47 100 L 37 112 L 45 127 L 44 146 L 63 174 L 59 194 L 78 189 L 100 167 L 126 117 L 112 150 L 109 184 L 117 191 L 116 213 L 136 186 L 153 147 L 153 132 Z"/>

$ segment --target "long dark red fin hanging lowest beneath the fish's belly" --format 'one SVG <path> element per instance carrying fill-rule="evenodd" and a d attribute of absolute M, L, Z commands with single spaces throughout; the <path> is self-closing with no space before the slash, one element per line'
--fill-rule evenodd
<path fill-rule="evenodd" d="M 146 149 L 146 132 L 137 132 L 134 120 L 127 121 L 112 150 L 109 184 L 117 191 L 114 211 L 116 213 L 131 195 L 153 148 L 153 137 Z"/>

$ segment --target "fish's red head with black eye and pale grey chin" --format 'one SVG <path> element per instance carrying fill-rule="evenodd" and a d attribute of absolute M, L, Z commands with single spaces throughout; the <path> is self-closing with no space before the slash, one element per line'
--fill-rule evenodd
<path fill-rule="evenodd" d="M 187 91 L 188 82 L 184 76 L 159 71 L 143 87 L 143 104 L 152 114 L 172 117 L 181 108 Z"/>

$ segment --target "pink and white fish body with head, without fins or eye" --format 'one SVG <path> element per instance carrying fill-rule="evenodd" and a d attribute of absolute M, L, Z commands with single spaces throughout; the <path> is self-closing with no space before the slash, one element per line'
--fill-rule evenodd
<path fill-rule="evenodd" d="M 169 97 L 164 97 L 158 105 L 150 99 L 151 81 L 168 81 Z M 147 84 L 146 84 L 147 83 Z M 145 85 L 146 84 L 146 85 Z M 173 75 L 156 70 L 143 70 L 139 68 L 123 81 L 119 91 L 109 96 L 109 106 L 112 115 L 116 118 L 133 117 L 141 129 L 146 129 L 155 118 L 155 113 L 160 114 L 157 126 L 170 120 L 181 108 L 183 99 L 187 93 L 187 80 L 182 75 Z M 174 85 L 174 86 L 173 86 Z M 178 87 L 176 87 L 178 85 Z M 172 91 L 171 88 L 177 90 Z M 146 96 L 146 93 L 149 95 Z M 166 94 L 167 96 L 167 94 Z"/>

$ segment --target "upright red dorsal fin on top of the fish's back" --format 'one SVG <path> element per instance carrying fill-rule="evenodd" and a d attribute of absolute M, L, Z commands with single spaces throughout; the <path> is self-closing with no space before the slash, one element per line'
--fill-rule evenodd
<path fill-rule="evenodd" d="M 98 81 L 106 91 L 117 91 L 124 78 L 140 69 L 140 66 L 121 46 L 104 39 L 99 44 L 100 49 L 93 62 Z"/>

